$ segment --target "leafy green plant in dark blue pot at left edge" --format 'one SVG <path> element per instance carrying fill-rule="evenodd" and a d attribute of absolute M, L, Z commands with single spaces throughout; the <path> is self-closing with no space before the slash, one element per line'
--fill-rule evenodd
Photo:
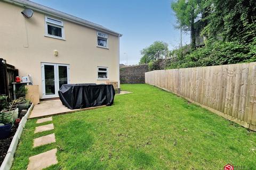
<path fill-rule="evenodd" d="M 18 118 L 18 108 L 12 108 L 7 96 L 0 96 L 0 139 L 9 137 L 12 130 L 13 118 Z"/>

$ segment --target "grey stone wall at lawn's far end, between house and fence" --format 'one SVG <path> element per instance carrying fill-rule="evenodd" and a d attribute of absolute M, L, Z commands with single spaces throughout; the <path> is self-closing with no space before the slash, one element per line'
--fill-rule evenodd
<path fill-rule="evenodd" d="M 147 64 L 122 67 L 120 68 L 120 83 L 145 83 L 145 72 L 148 72 Z"/>

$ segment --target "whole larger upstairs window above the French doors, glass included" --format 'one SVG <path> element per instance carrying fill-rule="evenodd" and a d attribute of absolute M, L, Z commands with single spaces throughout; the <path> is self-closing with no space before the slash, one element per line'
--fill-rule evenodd
<path fill-rule="evenodd" d="M 63 22 L 49 16 L 45 16 L 45 36 L 64 39 Z"/>

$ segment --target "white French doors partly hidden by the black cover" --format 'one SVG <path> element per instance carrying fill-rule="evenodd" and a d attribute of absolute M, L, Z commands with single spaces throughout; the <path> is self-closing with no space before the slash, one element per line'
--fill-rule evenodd
<path fill-rule="evenodd" d="M 59 97 L 62 84 L 70 81 L 69 65 L 41 63 L 43 98 Z"/>

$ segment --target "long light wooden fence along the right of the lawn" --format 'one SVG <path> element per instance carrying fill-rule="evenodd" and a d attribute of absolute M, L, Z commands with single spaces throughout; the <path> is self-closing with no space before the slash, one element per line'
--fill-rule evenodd
<path fill-rule="evenodd" d="M 256 62 L 156 70 L 145 82 L 256 131 Z"/>

